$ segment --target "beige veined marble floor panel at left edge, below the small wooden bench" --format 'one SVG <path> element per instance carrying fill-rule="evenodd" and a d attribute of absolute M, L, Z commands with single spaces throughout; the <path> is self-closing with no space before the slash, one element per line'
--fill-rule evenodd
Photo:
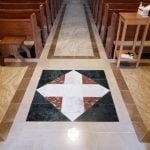
<path fill-rule="evenodd" d="M 27 67 L 0 67 L 0 122 L 26 72 Z"/>

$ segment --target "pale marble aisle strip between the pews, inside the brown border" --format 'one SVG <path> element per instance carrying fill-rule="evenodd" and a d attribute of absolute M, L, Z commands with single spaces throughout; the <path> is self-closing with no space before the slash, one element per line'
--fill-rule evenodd
<path fill-rule="evenodd" d="M 54 56 L 93 56 L 82 5 L 67 5 Z"/>

